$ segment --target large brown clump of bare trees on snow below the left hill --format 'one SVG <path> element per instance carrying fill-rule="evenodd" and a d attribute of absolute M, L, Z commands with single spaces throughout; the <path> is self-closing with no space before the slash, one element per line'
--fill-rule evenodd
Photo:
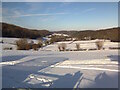
<path fill-rule="evenodd" d="M 28 43 L 27 39 L 20 39 L 16 41 L 16 45 L 17 50 L 30 50 L 30 49 L 38 50 L 43 46 L 42 42 L 40 41 L 37 44 L 34 44 L 33 41 L 31 41 L 31 43 Z"/>

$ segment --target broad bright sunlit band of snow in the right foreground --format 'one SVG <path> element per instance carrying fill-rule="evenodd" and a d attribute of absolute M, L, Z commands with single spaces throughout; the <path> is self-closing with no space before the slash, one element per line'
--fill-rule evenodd
<path fill-rule="evenodd" d="M 67 60 L 62 63 L 58 63 L 56 65 L 52 65 L 51 67 L 58 68 L 74 68 L 74 69 L 83 69 L 83 70 L 100 70 L 100 71 L 113 71 L 119 72 L 118 70 L 118 62 L 110 61 L 110 59 L 95 59 L 95 60 Z M 116 67 L 116 69 L 110 69 L 109 67 Z M 102 68 L 100 68 L 102 67 Z"/>

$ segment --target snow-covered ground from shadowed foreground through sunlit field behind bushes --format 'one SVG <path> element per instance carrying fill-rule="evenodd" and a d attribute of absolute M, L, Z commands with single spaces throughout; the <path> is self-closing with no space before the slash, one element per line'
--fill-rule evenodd
<path fill-rule="evenodd" d="M 81 43 L 81 48 L 96 48 L 94 41 L 76 42 Z M 76 42 L 66 43 L 68 48 L 74 48 Z M 57 44 L 39 51 L 3 50 L 0 62 L 3 88 L 118 87 L 117 49 L 59 52 Z M 104 47 L 118 47 L 118 43 L 106 42 Z"/>

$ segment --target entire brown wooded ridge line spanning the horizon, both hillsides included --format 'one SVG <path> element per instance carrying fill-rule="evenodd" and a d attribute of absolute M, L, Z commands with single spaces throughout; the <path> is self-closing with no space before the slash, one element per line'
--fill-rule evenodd
<path fill-rule="evenodd" d="M 109 39 L 111 41 L 120 42 L 120 27 L 102 29 L 102 30 L 84 30 L 84 31 L 56 31 L 50 32 L 48 30 L 34 30 L 27 29 L 13 24 L 2 23 L 2 37 L 15 37 L 15 38 L 31 38 L 36 39 L 50 35 L 52 33 L 68 34 L 71 37 L 76 37 L 79 40 L 85 37 L 91 39 Z"/>

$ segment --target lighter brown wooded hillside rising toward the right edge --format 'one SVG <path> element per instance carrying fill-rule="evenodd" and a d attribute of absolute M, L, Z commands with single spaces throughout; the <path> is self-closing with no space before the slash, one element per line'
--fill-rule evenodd
<path fill-rule="evenodd" d="M 56 33 L 63 33 L 76 37 L 79 40 L 85 37 L 90 37 L 91 39 L 109 39 L 111 41 L 120 42 L 120 27 L 102 29 L 102 30 L 85 30 L 85 31 L 58 31 Z"/>

